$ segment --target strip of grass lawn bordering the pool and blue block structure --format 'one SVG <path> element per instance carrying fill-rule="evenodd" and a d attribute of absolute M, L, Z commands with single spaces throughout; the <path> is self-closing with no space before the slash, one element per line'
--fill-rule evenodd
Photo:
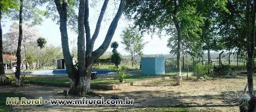
<path fill-rule="evenodd" d="M 183 74 L 186 73 L 186 71 L 182 72 Z M 126 73 L 126 78 L 124 80 L 125 83 L 131 83 L 135 81 L 143 81 L 147 79 L 157 78 L 157 77 L 166 77 L 166 76 L 174 76 L 176 75 L 176 71 L 172 69 L 166 69 L 165 75 L 141 75 L 140 72 L 132 72 L 132 73 Z M 14 81 L 13 75 L 9 75 L 7 77 L 10 77 L 12 81 Z M 37 81 L 37 82 L 54 82 L 54 83 L 69 83 L 67 76 L 49 76 L 49 75 L 28 75 L 27 81 Z M 104 85 L 110 85 L 110 84 L 118 84 L 118 77 L 115 75 L 113 77 L 106 76 L 99 76 L 98 79 L 91 81 L 91 84 L 104 84 Z"/>

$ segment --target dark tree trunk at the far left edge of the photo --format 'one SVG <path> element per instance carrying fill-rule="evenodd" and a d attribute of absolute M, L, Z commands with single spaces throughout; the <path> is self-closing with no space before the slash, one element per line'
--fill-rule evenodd
<path fill-rule="evenodd" d="M 2 7 L 0 5 L 0 76 L 1 76 L 1 84 L 6 83 L 6 75 L 4 73 L 4 60 L 3 60 L 3 40 L 2 40 Z"/>

